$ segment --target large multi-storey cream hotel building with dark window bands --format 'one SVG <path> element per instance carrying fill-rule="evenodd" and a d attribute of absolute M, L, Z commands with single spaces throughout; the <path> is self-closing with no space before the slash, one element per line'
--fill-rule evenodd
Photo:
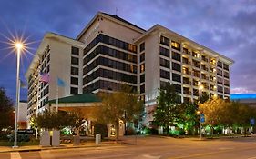
<path fill-rule="evenodd" d="M 116 91 L 127 83 L 139 90 L 150 121 L 158 89 L 167 83 L 175 85 L 181 102 L 198 100 L 200 84 L 203 92 L 229 98 L 232 63 L 161 25 L 146 31 L 117 15 L 98 13 L 77 39 L 45 35 L 26 72 L 28 116 L 56 99 L 59 77 L 66 83 L 59 97 Z M 49 73 L 48 84 L 38 82 L 39 72 Z"/>

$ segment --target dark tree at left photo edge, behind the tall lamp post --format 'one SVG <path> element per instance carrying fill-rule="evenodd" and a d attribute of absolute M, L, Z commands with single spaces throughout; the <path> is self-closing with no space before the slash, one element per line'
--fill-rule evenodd
<path fill-rule="evenodd" d="M 3 128 L 14 127 L 15 114 L 13 103 L 7 97 L 5 89 L 0 87 L 0 133 Z"/>

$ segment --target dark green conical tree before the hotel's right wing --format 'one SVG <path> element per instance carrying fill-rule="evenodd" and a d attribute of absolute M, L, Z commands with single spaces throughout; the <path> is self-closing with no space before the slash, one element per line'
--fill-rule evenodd
<path fill-rule="evenodd" d="M 169 134 L 169 126 L 175 125 L 182 114 L 182 106 L 179 104 L 179 94 L 175 91 L 175 87 L 167 84 L 164 88 L 159 89 L 157 97 L 157 109 L 154 114 L 154 122 L 163 126 Z"/>

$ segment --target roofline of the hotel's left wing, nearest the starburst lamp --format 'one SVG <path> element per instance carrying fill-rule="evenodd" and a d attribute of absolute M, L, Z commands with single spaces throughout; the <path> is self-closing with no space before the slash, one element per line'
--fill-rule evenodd
<path fill-rule="evenodd" d="M 32 62 L 30 63 L 30 65 L 28 66 L 27 70 L 26 70 L 26 77 L 28 77 L 29 72 L 31 71 L 32 68 L 34 68 L 35 65 L 37 65 L 37 61 L 40 59 L 39 55 L 42 55 L 43 51 L 45 50 L 45 46 L 48 40 L 51 39 L 58 39 L 61 41 L 66 41 L 68 43 L 72 42 L 72 43 L 77 43 L 78 46 L 80 47 L 85 47 L 85 45 L 82 42 L 77 41 L 76 39 L 67 37 L 65 35 L 58 35 L 56 33 L 52 33 L 52 32 L 46 32 L 46 34 L 44 35 L 40 45 L 38 46 L 37 50 L 36 50 L 36 54 L 32 60 Z"/>

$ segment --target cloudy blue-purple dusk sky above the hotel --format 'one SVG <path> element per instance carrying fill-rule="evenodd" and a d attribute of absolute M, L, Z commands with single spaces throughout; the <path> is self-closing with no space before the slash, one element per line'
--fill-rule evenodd
<path fill-rule="evenodd" d="M 1 0 L 0 87 L 15 101 L 16 54 L 6 44 L 23 36 L 20 76 L 46 32 L 76 38 L 98 11 L 149 29 L 163 25 L 235 61 L 231 93 L 256 93 L 256 1 L 254 0 Z M 21 89 L 26 100 L 26 89 Z"/>

